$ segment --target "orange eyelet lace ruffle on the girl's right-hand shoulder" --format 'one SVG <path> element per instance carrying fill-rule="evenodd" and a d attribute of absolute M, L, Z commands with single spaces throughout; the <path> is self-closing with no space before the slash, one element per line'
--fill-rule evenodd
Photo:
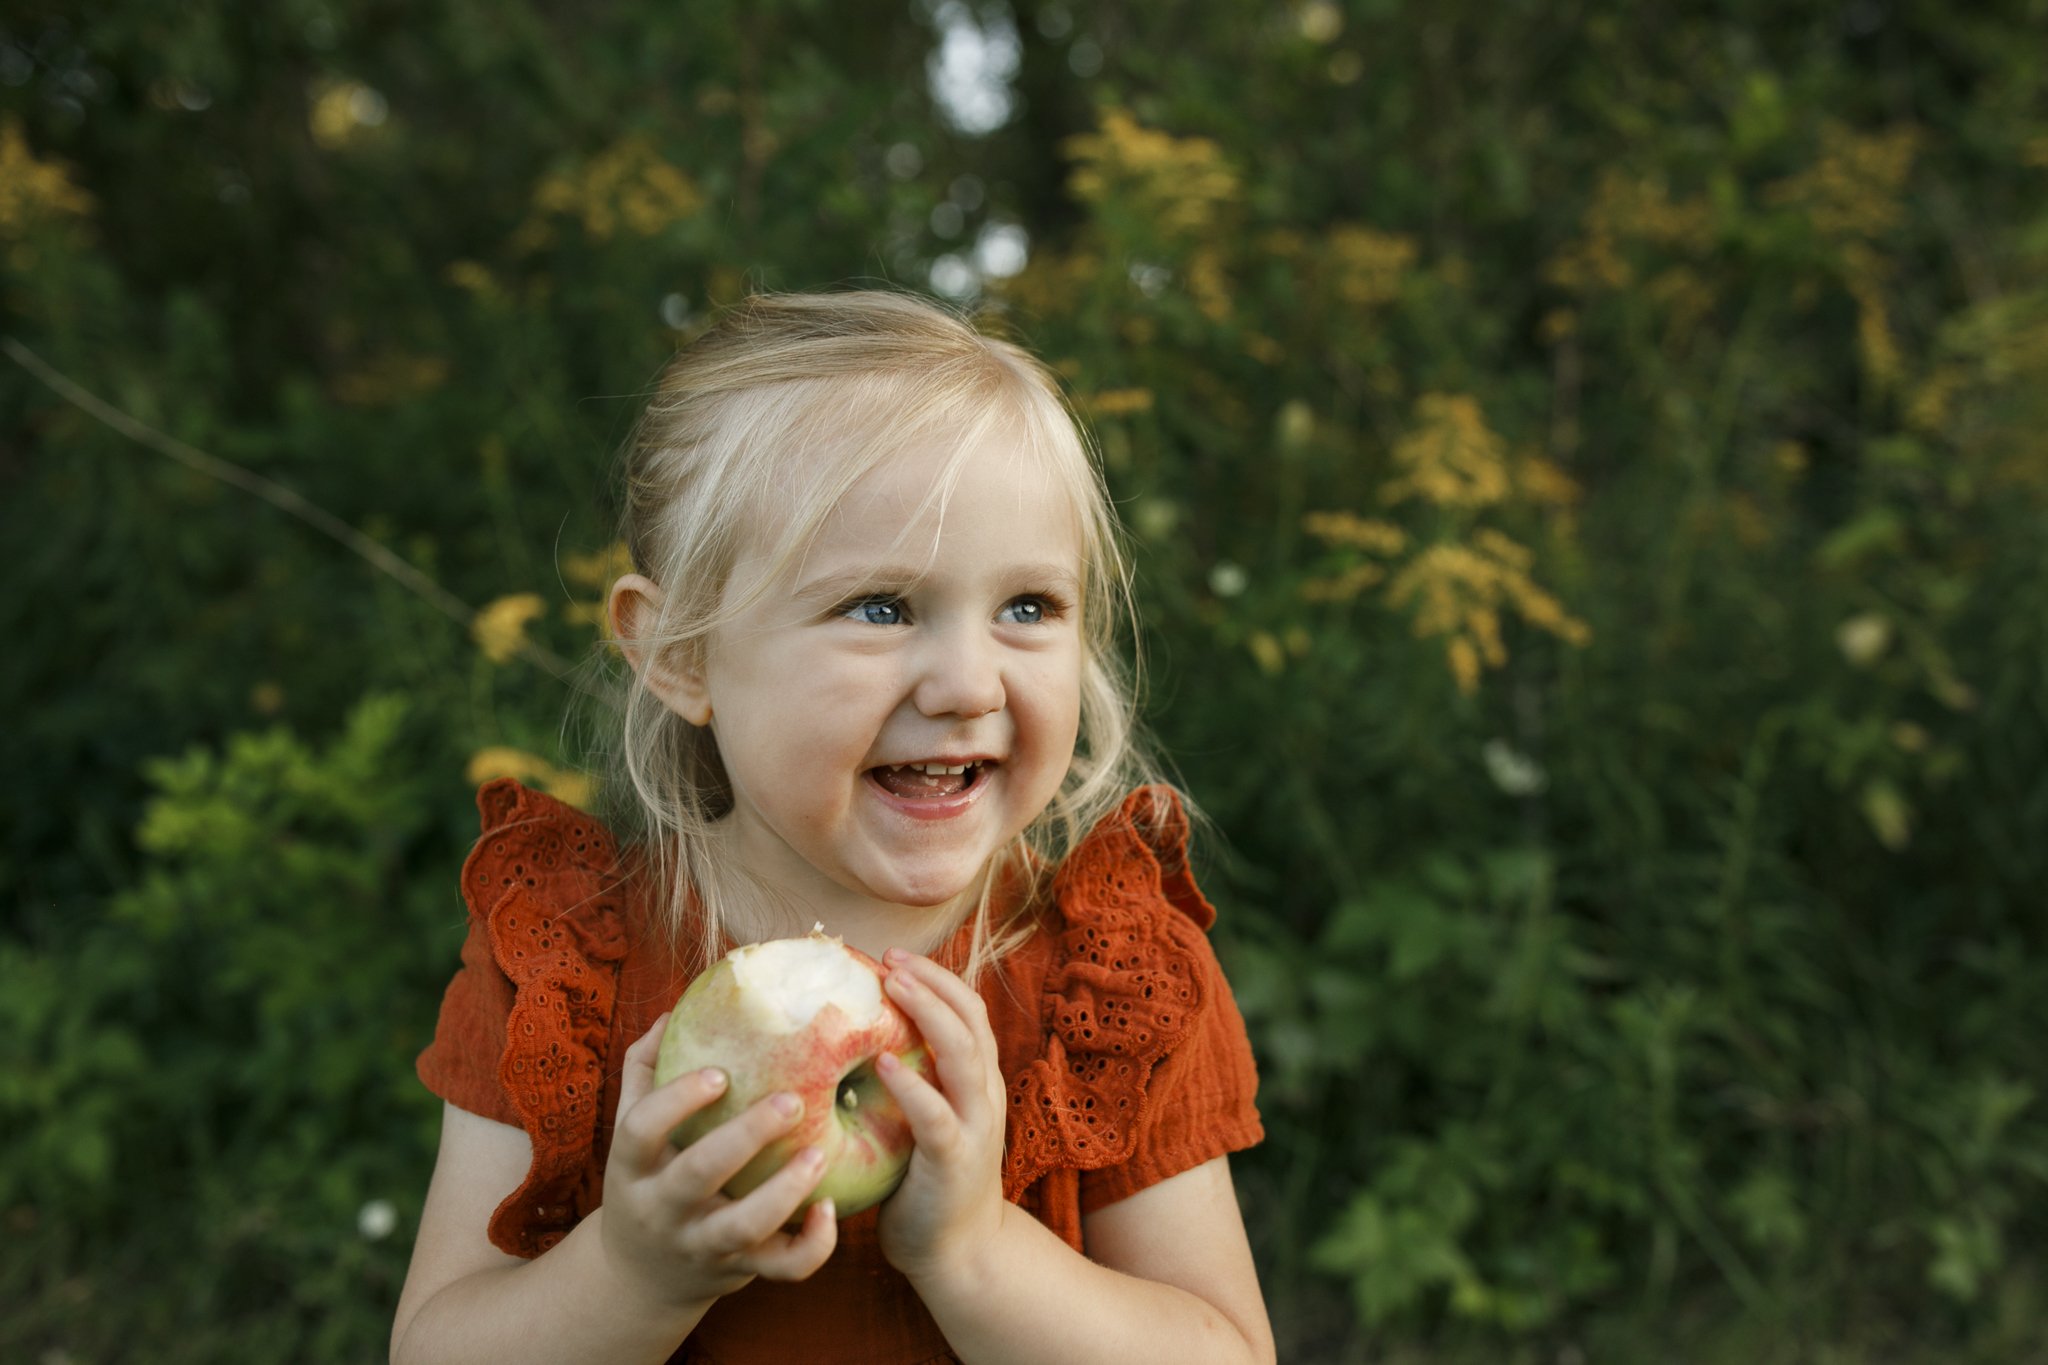
<path fill-rule="evenodd" d="M 1004 1197 L 1047 1171 L 1126 1160 L 1159 1058 L 1206 1005 L 1196 956 L 1174 937 L 1214 907 L 1188 874 L 1188 817 L 1167 788 L 1141 788 L 1067 855 L 1053 894 L 1065 913 L 1044 982 L 1044 1056 L 1010 1083 Z"/>

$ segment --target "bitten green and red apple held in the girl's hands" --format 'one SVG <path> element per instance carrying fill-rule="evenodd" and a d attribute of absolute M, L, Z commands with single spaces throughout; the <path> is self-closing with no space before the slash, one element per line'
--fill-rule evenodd
<path fill-rule="evenodd" d="M 924 1038 L 883 995 L 874 958 L 821 929 L 735 948 L 690 982 L 662 1033 L 655 1085 L 705 1066 L 729 1083 L 670 1142 L 690 1146 L 768 1095 L 791 1091 L 803 1099 L 803 1117 L 741 1166 L 725 1193 L 745 1195 L 799 1150 L 817 1146 L 825 1177 L 803 1207 L 831 1199 L 842 1218 L 858 1214 L 895 1191 L 913 1146 L 909 1119 L 874 1070 L 883 1052 L 932 1074 Z"/>

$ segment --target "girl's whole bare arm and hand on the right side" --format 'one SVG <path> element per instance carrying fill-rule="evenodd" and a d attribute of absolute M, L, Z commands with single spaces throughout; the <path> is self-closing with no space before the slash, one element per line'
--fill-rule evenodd
<path fill-rule="evenodd" d="M 969 1365 L 1038 1361 L 1270 1365 L 1272 1326 L 1225 1158 L 1081 1224 L 1087 1257 L 1001 1197 L 1004 1087 L 987 1007 L 938 964 L 891 950 L 889 995 L 938 1087 L 881 1064 L 911 1121 L 909 1177 L 883 1205 L 883 1252 Z"/>

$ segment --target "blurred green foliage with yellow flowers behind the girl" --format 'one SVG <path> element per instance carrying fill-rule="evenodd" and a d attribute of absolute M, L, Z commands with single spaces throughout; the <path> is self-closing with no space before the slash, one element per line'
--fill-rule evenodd
<path fill-rule="evenodd" d="M 635 395 L 1014 225 L 987 325 L 1212 819 L 1282 1359 L 2048 1359 L 2044 31 L 0 6 L 4 332 L 496 604 L 0 364 L 0 1357 L 379 1357 L 469 788 L 578 792 L 537 659 Z"/>

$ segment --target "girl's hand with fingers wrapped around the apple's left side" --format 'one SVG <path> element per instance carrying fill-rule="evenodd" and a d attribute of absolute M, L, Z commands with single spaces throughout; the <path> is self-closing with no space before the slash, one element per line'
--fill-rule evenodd
<path fill-rule="evenodd" d="M 815 1203 L 795 1234 L 782 1228 L 823 1179 L 817 1148 L 797 1152 L 743 1199 L 719 1193 L 756 1152 L 795 1126 L 803 1103 L 772 1095 L 676 1150 L 668 1136 L 725 1093 L 725 1076 L 696 1070 L 657 1089 L 653 1060 L 666 1023 L 668 1015 L 655 1019 L 625 1058 L 598 1209 L 606 1267 L 635 1295 L 664 1308 L 709 1308 L 756 1275 L 809 1277 L 840 1240 L 831 1201 Z"/>

